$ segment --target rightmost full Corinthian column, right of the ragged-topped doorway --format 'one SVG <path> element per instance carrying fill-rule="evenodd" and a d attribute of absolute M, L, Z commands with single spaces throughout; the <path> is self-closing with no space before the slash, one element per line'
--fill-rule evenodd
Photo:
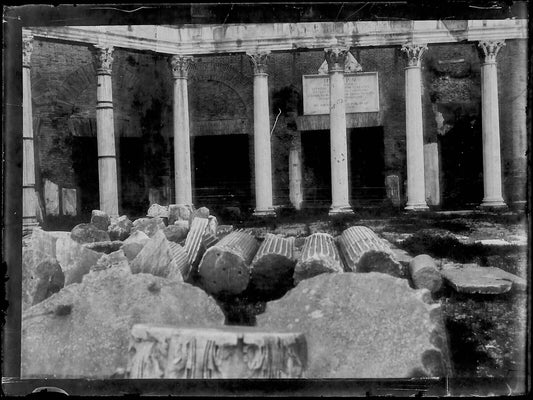
<path fill-rule="evenodd" d="M 483 208 L 506 208 L 502 196 L 500 115 L 496 56 L 503 41 L 479 42 L 481 56 L 481 125 L 483 135 Z"/>

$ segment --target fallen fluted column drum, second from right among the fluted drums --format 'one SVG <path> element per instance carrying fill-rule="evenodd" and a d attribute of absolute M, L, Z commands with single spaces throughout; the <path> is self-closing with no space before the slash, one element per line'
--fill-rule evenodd
<path fill-rule="evenodd" d="M 294 283 L 298 284 L 304 279 L 330 272 L 344 272 L 333 237 L 327 233 L 308 236 L 294 268 Z"/>

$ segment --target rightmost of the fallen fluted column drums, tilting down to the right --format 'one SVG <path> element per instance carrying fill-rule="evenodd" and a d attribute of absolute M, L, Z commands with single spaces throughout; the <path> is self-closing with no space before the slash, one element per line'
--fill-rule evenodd
<path fill-rule="evenodd" d="M 337 239 L 347 271 L 381 272 L 401 277 L 402 266 L 390 246 L 366 226 L 352 226 Z"/>

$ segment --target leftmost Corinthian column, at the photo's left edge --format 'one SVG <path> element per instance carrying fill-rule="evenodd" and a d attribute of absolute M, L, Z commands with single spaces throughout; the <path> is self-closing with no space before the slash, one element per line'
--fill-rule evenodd
<path fill-rule="evenodd" d="M 22 38 L 22 230 L 30 233 L 39 224 L 35 193 L 35 153 L 33 145 L 33 113 L 31 104 L 30 58 L 33 38 Z"/>

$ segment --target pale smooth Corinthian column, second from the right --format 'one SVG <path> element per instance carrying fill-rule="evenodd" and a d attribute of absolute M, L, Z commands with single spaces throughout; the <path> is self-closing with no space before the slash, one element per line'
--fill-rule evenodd
<path fill-rule="evenodd" d="M 405 67 L 405 133 L 407 148 L 406 210 L 427 210 L 424 177 L 424 131 L 422 125 L 422 88 L 420 60 L 426 45 L 407 44 Z"/>

